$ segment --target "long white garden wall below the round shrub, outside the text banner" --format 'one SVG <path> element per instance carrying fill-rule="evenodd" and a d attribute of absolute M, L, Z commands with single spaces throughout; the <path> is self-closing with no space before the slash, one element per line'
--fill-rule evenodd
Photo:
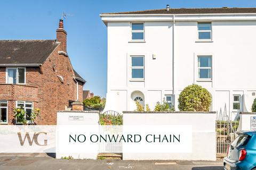
<path fill-rule="evenodd" d="M 124 160 L 216 160 L 214 113 L 124 113 L 125 125 L 191 125 L 191 153 L 123 153 Z M 157 120 L 157 121 L 156 121 Z M 203 121 L 202 121 L 203 120 Z M 123 143 L 125 147 L 126 143 Z"/>

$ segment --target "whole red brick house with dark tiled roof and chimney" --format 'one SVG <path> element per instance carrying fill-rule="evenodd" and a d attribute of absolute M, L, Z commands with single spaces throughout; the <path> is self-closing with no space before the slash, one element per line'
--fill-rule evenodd
<path fill-rule="evenodd" d="M 57 40 L 0 40 L 0 124 L 16 124 L 14 108 L 41 109 L 35 124 L 56 124 L 57 111 L 83 100 L 85 80 L 67 54 L 67 32 L 59 22 Z"/>

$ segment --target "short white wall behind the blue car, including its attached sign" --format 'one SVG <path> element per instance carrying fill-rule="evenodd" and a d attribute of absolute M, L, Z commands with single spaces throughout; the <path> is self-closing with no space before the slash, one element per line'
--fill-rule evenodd
<path fill-rule="evenodd" d="M 256 113 L 240 113 L 239 131 L 256 130 Z"/>

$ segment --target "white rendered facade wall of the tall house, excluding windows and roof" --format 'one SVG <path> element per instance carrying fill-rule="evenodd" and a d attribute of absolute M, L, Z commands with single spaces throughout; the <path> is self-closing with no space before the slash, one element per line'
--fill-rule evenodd
<path fill-rule="evenodd" d="M 256 91 L 256 21 L 248 21 L 252 17 L 175 16 L 173 36 L 173 16 L 102 16 L 108 30 L 105 111 L 133 111 L 131 94 L 135 90 L 145 95 L 145 104 L 151 109 L 165 95 L 174 94 L 178 111 L 180 91 L 196 83 L 211 92 L 213 111 L 223 111 L 226 104 L 229 117 L 234 119 L 239 112 L 233 112 L 233 95 L 241 95 L 241 111 L 250 112 L 256 97 L 252 95 Z M 212 41 L 207 43 L 197 41 L 197 21 L 202 20 L 212 22 Z M 145 21 L 145 43 L 130 43 L 131 21 Z M 131 55 L 145 55 L 145 81 L 130 81 Z M 212 81 L 198 81 L 197 55 L 212 55 Z"/>

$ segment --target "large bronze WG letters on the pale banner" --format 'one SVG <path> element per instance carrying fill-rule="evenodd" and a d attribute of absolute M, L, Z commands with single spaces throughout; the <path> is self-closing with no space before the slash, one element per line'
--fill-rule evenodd
<path fill-rule="evenodd" d="M 46 139 L 44 140 L 44 144 L 38 143 L 38 135 L 39 135 L 39 134 L 45 134 L 45 135 L 47 135 L 46 132 L 37 132 L 37 133 L 35 132 L 34 135 L 33 135 L 32 140 L 31 140 L 29 133 L 26 132 L 25 137 L 24 137 L 24 139 L 22 140 L 21 133 L 18 132 L 18 137 L 19 137 L 19 140 L 20 140 L 20 145 L 23 146 L 24 143 L 25 143 L 25 141 L 26 141 L 26 138 L 27 138 L 28 143 L 29 143 L 29 146 L 33 145 L 33 142 L 35 142 L 36 145 L 38 145 L 38 146 L 46 146 L 46 145 L 47 145 L 47 140 L 46 140 Z"/>

